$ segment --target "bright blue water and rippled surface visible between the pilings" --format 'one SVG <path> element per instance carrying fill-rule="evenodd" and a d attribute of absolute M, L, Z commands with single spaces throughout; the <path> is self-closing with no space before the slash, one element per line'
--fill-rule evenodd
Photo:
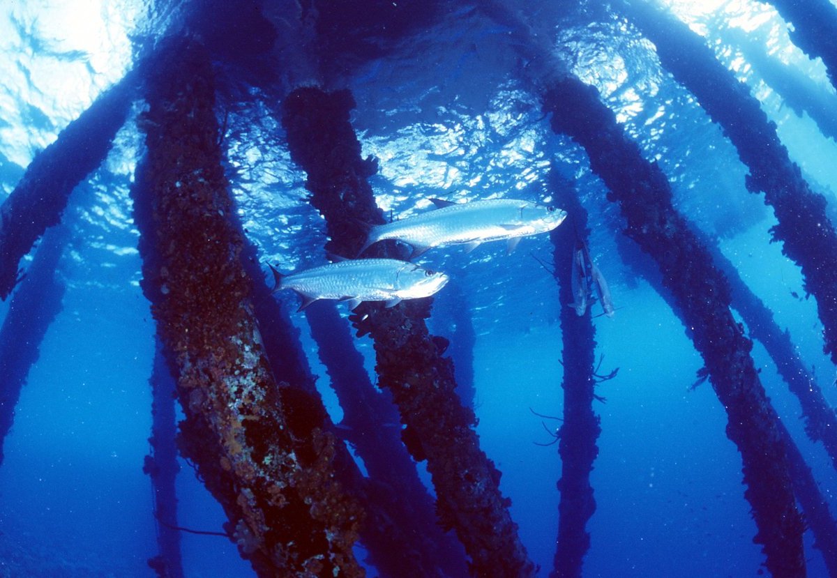
<path fill-rule="evenodd" d="M 13 190 L 37 151 L 85 110 L 133 62 L 139 43 L 181 29 L 185 3 L 139 0 L 0 4 L 0 201 Z M 723 253 L 751 289 L 788 328 L 806 366 L 813 366 L 829 402 L 837 404 L 834 366 L 821 353 L 814 299 L 804 296 L 798 267 L 769 243 L 775 224 L 761 197 L 744 188 L 747 169 L 732 145 L 691 96 L 660 70 L 648 43 L 612 24 L 584 26 L 558 20 L 556 10 L 530 7 L 533 28 L 583 80 L 595 84 L 627 130 L 670 178 L 677 207 L 707 233 L 721 237 Z M 270 13 L 282 20 L 280 3 Z M 675 4 L 709 42 L 711 13 Z M 778 15 L 759 3 L 715 7 L 721 20 L 768 38 L 774 58 L 807 74 L 834 98 L 824 68 L 787 38 Z M 506 41 L 507 28 L 463 7 L 394 45 L 387 54 L 345 69 L 331 82 L 357 100 L 352 124 L 364 155 L 376 156 L 372 177 L 378 204 L 398 217 L 429 210 L 429 197 L 470 200 L 516 197 L 547 200 L 547 172 L 557 161 L 573 179 L 590 214 L 590 248 L 619 308 L 599 317 L 597 355 L 602 371 L 619 374 L 599 386 L 606 402 L 591 483 L 597 509 L 588 529 L 591 548 L 584 575 L 756 576 L 763 555 L 743 498 L 741 459 L 724 428 L 727 416 L 711 386 L 690 386 L 702 361 L 684 327 L 650 285 L 623 263 L 617 250 L 623 223 L 618 207 L 589 170 L 583 151 L 552 135 L 531 94 L 526 63 Z M 134 44 L 132 45 L 132 41 Z M 281 42 L 280 42 L 281 44 Z M 316 78 L 299 44 L 277 49 L 279 94 Z M 745 80 L 763 105 L 794 161 L 834 201 L 837 146 L 807 115 L 783 105 L 735 49 L 718 58 Z M 285 67 L 280 66 L 285 63 Z M 223 69 L 223 66 L 221 67 Z M 223 69 L 230 74 L 230 69 Z M 239 217 L 264 261 L 280 269 L 322 263 L 321 217 L 306 202 L 305 175 L 277 140 L 269 114 L 275 93 L 253 89 L 221 98 L 229 114 L 229 178 Z M 142 472 L 149 452 L 154 325 L 141 293 L 138 233 L 128 188 L 141 156 L 137 102 L 105 164 L 73 193 L 64 223 L 71 238 L 59 264 L 67 286 L 63 311 L 40 344 L 3 442 L 0 467 L 0 576 L 142 576 L 157 555 L 151 485 Z M 279 133 L 280 134 L 280 133 Z M 502 492 L 540 575 L 552 567 L 560 476 L 557 444 L 530 412 L 562 412 L 561 329 L 557 286 L 530 253 L 548 259 L 546 237 L 526 238 L 506 256 L 501 243 L 465 254 L 459 248 L 427 253 L 422 262 L 444 269 L 465 292 L 477 335 L 475 411 L 481 448 L 503 472 Z M 25 263 L 24 263 L 25 266 Z M 290 310 L 297 301 L 282 295 Z M 598 306 L 598 305 L 597 305 Z M 0 318 L 8 302 L 0 303 Z M 437 314 L 438 315 L 438 314 Z M 335 422 L 341 409 L 316 358 L 306 320 L 302 330 L 312 369 L 320 375 Z M 442 320 L 430 324 L 443 326 Z M 357 340 L 372 371 L 371 342 Z M 837 512 L 837 473 L 819 445 L 805 437 L 798 402 L 756 344 L 756 366 L 783 421 L 813 468 L 820 490 Z M 454 360 L 455 361 L 455 360 Z M 374 377 L 373 377 L 373 382 Z M 557 427 L 546 422 L 547 429 Z M 179 524 L 220 531 L 223 512 L 181 463 Z M 809 576 L 825 576 L 806 534 Z M 190 578 L 254 575 L 229 540 L 182 535 Z M 369 575 L 376 575 L 374 569 Z"/>

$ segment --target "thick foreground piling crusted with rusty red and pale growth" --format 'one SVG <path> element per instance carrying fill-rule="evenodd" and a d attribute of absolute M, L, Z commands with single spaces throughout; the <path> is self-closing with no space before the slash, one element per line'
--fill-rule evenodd
<path fill-rule="evenodd" d="M 334 478 L 325 412 L 275 381 L 259 340 L 211 64 L 198 44 L 174 42 L 177 59 L 148 81 L 147 156 L 133 194 L 142 287 L 186 416 L 180 451 L 260 576 L 362 575 L 352 554 L 362 511 Z"/>

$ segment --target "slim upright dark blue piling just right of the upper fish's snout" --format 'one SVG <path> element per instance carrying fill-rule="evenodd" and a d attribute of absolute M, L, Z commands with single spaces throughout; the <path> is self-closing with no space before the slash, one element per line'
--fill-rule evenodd
<path fill-rule="evenodd" d="M 550 191 L 555 203 L 567 211 L 567 223 L 552 230 L 553 265 L 561 307 L 562 364 L 564 391 L 563 422 L 558 428 L 558 453 L 561 456 L 561 492 L 558 503 L 558 536 L 550 576 L 580 578 L 584 556 L 590 548 L 588 520 L 596 510 L 590 472 L 598 456 L 596 440 L 602 432 L 593 412 L 596 380 L 594 353 L 596 329 L 590 308 L 578 315 L 573 303 L 573 258 L 580 243 L 587 243 L 587 211 L 584 210 L 569 182 L 552 170 Z"/>

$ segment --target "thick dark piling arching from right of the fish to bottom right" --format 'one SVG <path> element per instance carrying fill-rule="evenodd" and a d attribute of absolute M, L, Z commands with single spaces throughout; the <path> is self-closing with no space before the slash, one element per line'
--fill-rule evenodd
<path fill-rule="evenodd" d="M 752 342 L 730 311 L 727 279 L 706 247 L 671 204 L 668 179 L 645 161 L 598 91 L 565 77 L 542 95 L 552 130 L 571 136 L 587 151 L 590 166 L 618 202 L 624 233 L 654 258 L 674 296 L 686 331 L 706 365 L 727 410 L 727 437 L 742 454 L 745 498 L 758 528 L 768 570 L 776 578 L 805 575 L 804 524 L 793 497 L 778 416 L 768 402 L 750 356 Z"/>

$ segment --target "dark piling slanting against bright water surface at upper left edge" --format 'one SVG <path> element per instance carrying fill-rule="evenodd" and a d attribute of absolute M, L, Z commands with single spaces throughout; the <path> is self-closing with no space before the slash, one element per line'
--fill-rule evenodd
<path fill-rule="evenodd" d="M 57 225 L 69 193 L 105 160 L 134 98 L 136 74 L 106 90 L 33 159 L 0 206 L 0 299 L 21 277 L 20 260 Z"/>

